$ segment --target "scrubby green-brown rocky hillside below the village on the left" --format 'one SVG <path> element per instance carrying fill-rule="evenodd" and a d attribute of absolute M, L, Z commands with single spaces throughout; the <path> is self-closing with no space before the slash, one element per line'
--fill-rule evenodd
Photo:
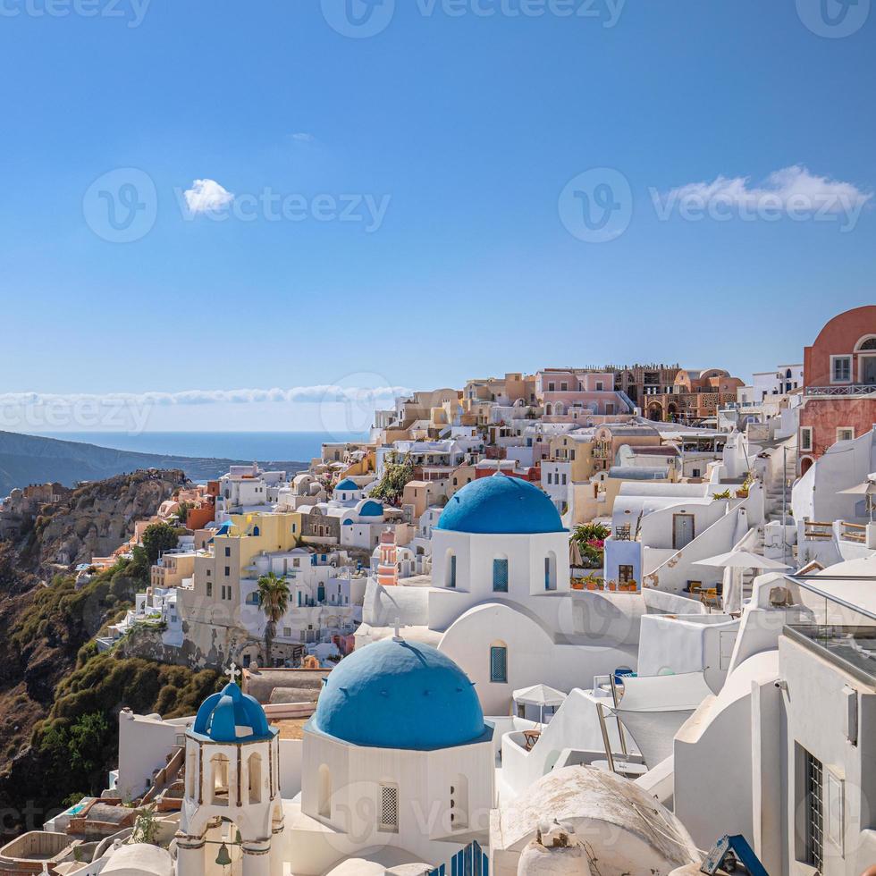
<path fill-rule="evenodd" d="M 182 478 L 181 472 L 159 475 L 137 472 L 89 484 L 73 493 L 64 510 L 38 520 L 21 543 L 0 542 L 4 833 L 38 828 L 71 796 L 105 788 L 117 759 L 117 719 L 124 706 L 176 717 L 193 712 L 219 683 L 211 670 L 97 653 L 95 636 L 121 618 L 148 584 L 146 549 L 136 548 L 131 560 L 118 560 L 79 589 L 69 573 L 41 580 L 51 564 L 40 558 L 53 556 L 58 543 L 88 543 L 97 520 L 128 537 L 136 518 L 131 507 L 149 516 Z"/>

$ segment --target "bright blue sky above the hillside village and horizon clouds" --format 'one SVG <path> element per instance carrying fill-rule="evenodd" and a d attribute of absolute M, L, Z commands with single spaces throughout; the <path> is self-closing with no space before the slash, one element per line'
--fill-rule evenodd
<path fill-rule="evenodd" d="M 48 2 L 0 0 L 2 392 L 195 390 L 147 427 L 319 428 L 318 391 L 208 393 L 746 376 L 874 300 L 870 0 L 840 37 L 821 0 L 350 0 L 365 38 L 342 0 Z M 606 179 L 600 236 L 574 211 Z"/>

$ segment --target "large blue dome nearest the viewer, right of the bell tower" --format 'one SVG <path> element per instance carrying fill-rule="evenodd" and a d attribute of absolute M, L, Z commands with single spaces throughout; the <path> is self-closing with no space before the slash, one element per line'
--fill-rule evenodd
<path fill-rule="evenodd" d="M 314 729 L 353 745 L 431 751 L 484 735 L 465 672 L 431 645 L 384 639 L 345 657 L 316 704 Z"/>

